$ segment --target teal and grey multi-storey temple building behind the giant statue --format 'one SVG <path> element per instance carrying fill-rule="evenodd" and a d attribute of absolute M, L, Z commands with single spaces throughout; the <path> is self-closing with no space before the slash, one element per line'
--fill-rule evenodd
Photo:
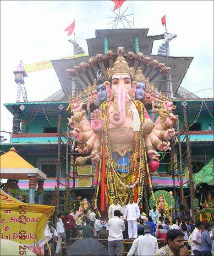
<path fill-rule="evenodd" d="M 10 143 L 1 144 L 1 150 L 7 152 L 11 146 L 14 146 L 16 153 L 22 156 L 33 167 L 38 168 L 47 178 L 44 181 L 43 203 L 46 205 L 54 204 L 53 196 L 57 188 L 57 170 L 60 168 L 60 196 L 64 197 L 66 191 L 66 173 L 70 174 L 69 187 L 71 200 L 80 197 L 87 197 L 93 204 L 95 187 L 93 185 L 94 166 L 91 161 L 87 161 L 84 168 L 73 167 L 71 154 L 71 137 L 68 136 L 67 118 L 71 117 L 68 107 L 68 97 L 74 95 L 76 90 L 87 87 L 87 83 L 81 76 L 86 76 L 90 81 L 88 70 L 92 66 L 82 67 L 82 62 L 88 63 L 89 58 L 94 58 L 93 63 L 98 69 L 102 69 L 110 58 L 116 58 L 118 47 L 124 47 L 124 52 L 133 52 L 132 65 L 139 62 L 138 53 L 143 53 L 144 57 L 150 57 L 171 67 L 171 83 L 167 73 L 159 79 L 158 71 L 148 65 L 148 76 L 155 81 L 155 87 L 166 95 L 172 95 L 174 105 L 176 106 L 176 115 L 179 116 L 180 128 L 183 124 L 182 102 L 187 102 L 187 123 L 189 127 L 190 143 L 192 149 L 192 168 L 193 173 L 197 173 L 213 157 L 213 99 L 200 99 L 197 95 L 184 89 L 185 84 L 182 80 L 192 62 L 193 57 L 178 56 L 160 56 L 152 55 L 154 40 L 165 39 L 164 34 L 148 36 L 148 28 L 143 29 L 102 29 L 96 30 L 96 38 L 87 39 L 89 56 L 82 56 L 74 59 L 54 60 L 52 61 L 55 72 L 59 78 L 61 89 L 50 95 L 44 101 L 29 102 L 27 100 L 17 101 L 16 103 L 5 103 L 4 106 L 13 118 L 13 128 Z M 108 56 L 108 51 L 113 52 L 113 56 Z M 100 54 L 100 59 L 98 58 Z M 104 66 L 103 66 L 104 65 Z M 67 69 L 77 66 L 79 77 L 73 77 L 66 73 Z M 89 67 L 90 66 L 90 67 Z M 94 67 L 93 66 L 93 67 Z M 137 66 L 137 64 L 136 64 Z M 96 70 L 96 69 L 95 69 Z M 22 71 L 24 72 L 24 70 Z M 16 72 L 17 73 L 17 72 Z M 27 76 L 26 73 L 24 73 Z M 95 76 L 95 72 L 93 71 Z M 16 82 L 17 83 L 17 82 Z M 171 97 L 171 98 L 172 98 Z M 59 140 L 59 122 L 61 117 L 61 131 Z M 211 124 L 211 128 L 209 128 Z M 60 149 L 59 149 L 60 147 Z M 181 148 L 184 153 L 186 150 L 185 134 L 181 134 Z M 69 149 L 69 151 L 68 151 Z M 173 189 L 173 179 L 171 170 L 170 153 L 166 154 L 165 159 L 160 162 L 160 167 L 154 173 L 151 173 L 151 179 L 154 191 L 157 189 Z M 175 158 L 178 155 L 178 146 L 176 145 Z M 186 157 L 186 155 L 184 155 Z M 183 164 L 185 169 L 185 161 Z M 177 189 L 180 186 L 179 168 L 175 172 L 175 183 Z M 29 180 L 20 180 L 18 186 L 22 190 L 28 189 Z M 187 177 L 183 172 L 183 187 L 188 188 Z M 60 207 L 63 210 L 61 201 Z"/>

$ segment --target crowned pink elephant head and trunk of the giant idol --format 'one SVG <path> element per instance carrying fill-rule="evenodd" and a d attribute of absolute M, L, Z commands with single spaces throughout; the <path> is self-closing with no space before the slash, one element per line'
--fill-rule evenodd
<path fill-rule="evenodd" d="M 106 87 L 111 86 L 111 95 L 117 103 L 117 111 L 110 113 L 109 121 L 115 126 L 121 126 L 126 119 L 126 102 L 131 101 L 132 87 L 137 86 L 137 82 L 133 81 L 133 67 L 128 67 L 128 64 L 123 56 L 119 56 L 112 68 L 107 68 L 106 77 L 111 81 L 111 84 L 106 81 Z"/>

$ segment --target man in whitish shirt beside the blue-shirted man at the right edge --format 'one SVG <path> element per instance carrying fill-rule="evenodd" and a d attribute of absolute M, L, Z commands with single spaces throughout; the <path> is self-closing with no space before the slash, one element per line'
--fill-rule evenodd
<path fill-rule="evenodd" d="M 201 229 L 202 223 L 196 222 L 195 229 L 192 232 L 192 252 L 195 256 L 202 256 L 201 253 Z"/>

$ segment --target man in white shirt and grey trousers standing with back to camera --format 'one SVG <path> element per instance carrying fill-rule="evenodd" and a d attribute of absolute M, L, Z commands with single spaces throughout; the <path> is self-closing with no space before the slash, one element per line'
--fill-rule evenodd
<path fill-rule="evenodd" d="M 120 219 L 121 211 L 115 210 L 114 217 L 112 217 L 109 223 L 109 238 L 108 238 L 108 251 L 109 255 L 122 256 L 123 251 L 123 231 L 125 230 L 124 221 Z"/>

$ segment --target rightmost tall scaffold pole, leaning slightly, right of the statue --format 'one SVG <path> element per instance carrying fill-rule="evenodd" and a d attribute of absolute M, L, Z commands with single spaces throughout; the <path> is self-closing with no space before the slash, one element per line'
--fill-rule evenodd
<path fill-rule="evenodd" d="M 193 207 L 193 201 L 195 199 L 195 189 L 194 189 L 194 182 L 192 179 L 192 163 L 191 163 L 191 148 L 189 142 L 189 129 L 187 126 L 187 111 L 186 107 L 183 109 L 184 111 L 184 129 L 186 134 L 186 144 L 187 144 L 187 165 L 189 170 L 189 189 L 190 189 L 190 200 L 191 200 L 191 210 L 192 210 L 192 220 L 195 220 L 195 210 Z"/>

